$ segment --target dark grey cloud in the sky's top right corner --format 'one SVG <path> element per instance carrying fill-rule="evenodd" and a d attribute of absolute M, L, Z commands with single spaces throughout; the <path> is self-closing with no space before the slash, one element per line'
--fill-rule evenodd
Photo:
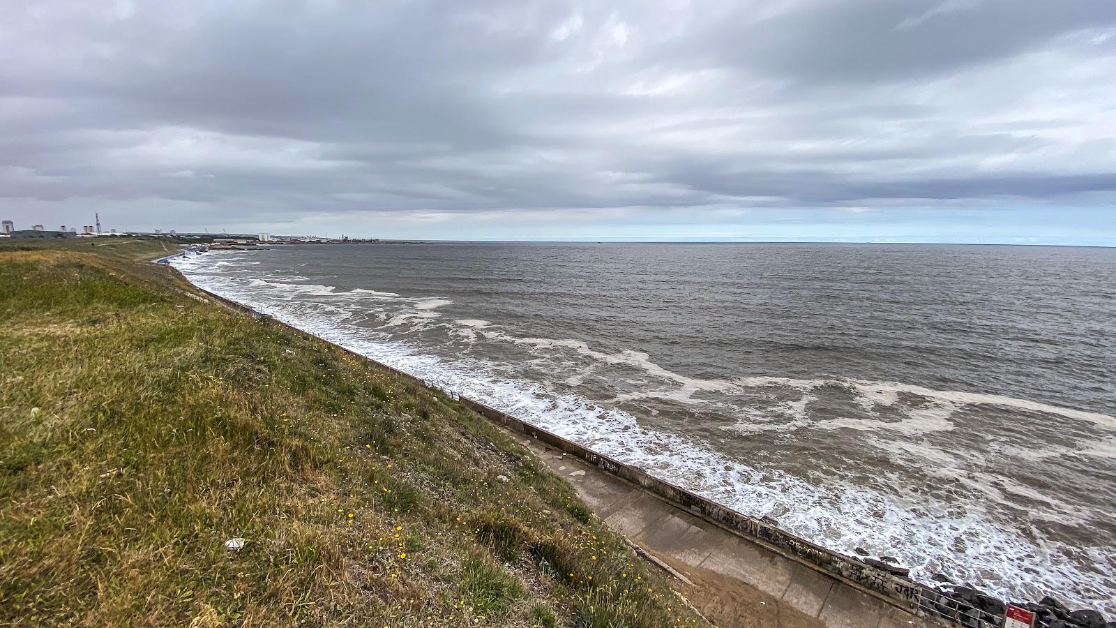
<path fill-rule="evenodd" d="M 892 0 L 819 3 L 721 25 L 709 51 L 733 66 L 808 82 L 912 80 L 1041 48 L 1067 32 L 1116 26 L 1116 3 L 1106 0 L 985 0 L 905 27 L 927 6 L 933 8 Z"/>

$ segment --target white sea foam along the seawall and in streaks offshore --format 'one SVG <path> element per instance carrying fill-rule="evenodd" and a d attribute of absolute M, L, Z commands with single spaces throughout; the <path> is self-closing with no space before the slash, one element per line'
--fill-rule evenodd
<path fill-rule="evenodd" d="M 933 572 L 941 572 L 959 582 L 975 582 L 1001 596 L 1036 598 L 1050 591 L 1061 591 L 1075 603 L 1096 607 L 1097 600 L 1101 600 L 1101 608 L 1107 605 L 1107 610 L 1116 610 L 1106 601 L 1116 590 L 1116 581 L 1110 575 L 1116 572 L 1116 561 L 1108 548 L 1069 549 L 1047 542 L 1038 530 L 1020 531 L 997 523 L 988 516 L 979 499 L 958 507 L 958 504 L 926 498 L 923 493 L 907 488 L 897 475 L 884 478 L 888 486 L 894 487 L 894 494 L 885 494 L 843 483 L 839 478 L 817 483 L 817 479 L 807 482 L 778 469 L 759 469 L 693 438 L 648 429 L 632 415 L 616 408 L 574 394 L 549 394 L 540 383 L 499 375 L 492 364 L 475 360 L 448 361 L 425 353 L 420 346 L 393 340 L 385 333 L 349 323 L 349 317 L 366 310 L 371 299 L 373 304 L 391 303 L 404 307 L 389 314 L 388 322 L 398 320 L 398 326 L 427 324 L 431 315 L 437 315 L 430 311 L 451 304 L 449 299 L 407 299 L 374 291 L 354 295 L 352 292 L 335 292 L 331 286 L 233 280 L 219 275 L 191 273 L 191 269 L 203 267 L 195 260 L 175 261 L 174 265 L 186 270 L 187 276 L 202 287 L 261 310 L 292 326 L 639 466 L 740 512 L 754 516 L 772 515 L 791 532 L 834 550 L 847 553 L 853 548 L 863 546 L 876 554 L 897 556 L 913 568 L 916 577 L 925 579 Z M 338 304 L 314 307 L 314 304 L 321 303 L 308 304 L 304 297 L 336 299 Z M 693 379 L 658 367 L 647 354 L 636 351 L 612 354 L 573 340 L 510 336 L 492 325 L 474 324 L 478 321 L 473 320 L 455 323 L 490 340 L 513 342 L 537 351 L 573 350 L 604 364 L 639 369 L 653 379 L 673 383 L 675 388 L 663 389 L 661 393 L 675 400 L 690 400 L 690 394 L 699 390 L 783 387 L 799 392 L 797 399 L 782 400 L 760 412 L 762 416 L 753 416 L 757 425 L 764 425 L 764 420 L 771 425 L 812 421 L 809 405 L 817 400 L 814 393 L 825 387 L 841 387 L 856 396 L 857 403 L 869 418 L 857 419 L 867 422 L 830 427 L 863 429 L 879 447 L 886 447 L 888 443 L 895 447 L 896 443 L 901 443 L 899 449 L 895 449 L 897 457 L 921 456 L 941 467 L 943 474 L 962 478 L 973 491 L 997 499 L 1011 498 L 1012 494 L 1033 499 L 1035 495 L 1028 494 L 1030 489 L 1026 486 L 997 483 L 997 478 L 991 476 L 966 474 L 963 458 L 925 443 L 895 441 L 878 438 L 877 435 L 883 430 L 899 430 L 904 436 L 945 430 L 952 427 L 950 418 L 958 408 L 981 403 L 1087 420 L 1106 428 L 1114 425 L 1113 418 L 1107 415 L 994 394 L 936 391 L 896 382 Z M 903 405 L 902 416 L 905 418 L 899 420 L 874 416 L 882 408 L 898 408 L 901 394 L 922 397 L 926 402 L 913 407 Z M 779 421 L 771 419 L 772 413 L 779 416 Z M 1113 445 L 1114 441 L 1101 443 L 1095 446 L 1095 451 L 1081 453 L 1107 456 Z M 1050 499 L 1046 499 L 1046 504 L 1050 508 L 1057 506 L 1051 505 Z M 1062 508 L 1058 506 L 1051 512 L 1064 514 L 1059 510 Z M 1083 571 L 1080 562 L 1071 558 L 1083 554 L 1095 562 L 1095 571 Z"/>

